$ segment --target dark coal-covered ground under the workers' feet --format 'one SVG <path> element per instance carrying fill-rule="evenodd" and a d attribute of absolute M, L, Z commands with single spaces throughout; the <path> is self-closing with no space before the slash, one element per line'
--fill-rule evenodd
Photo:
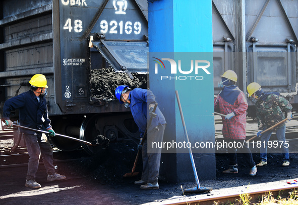
<path fill-rule="evenodd" d="M 185 198 L 181 189 L 195 187 L 193 182 L 169 183 L 159 181 L 157 190 L 142 190 L 132 178 L 123 178 L 130 172 L 136 149 L 124 144 L 111 144 L 105 151 L 75 161 L 55 163 L 57 172 L 67 176 L 62 181 L 46 181 L 41 164 L 36 180 L 41 188 L 25 187 L 27 166 L 0 169 L 0 204 L 165 204 Z M 256 162 L 258 154 L 253 154 Z M 105 159 L 105 160 L 103 160 Z M 141 161 L 137 171 L 141 170 Z M 232 191 L 256 190 L 287 185 L 286 181 L 298 178 L 298 154 L 290 154 L 289 167 L 282 167 L 281 154 L 269 154 L 268 165 L 258 168 L 256 176 L 248 175 L 249 167 L 239 155 L 239 173 L 222 174 L 227 165 L 226 154 L 216 154 L 216 178 L 200 181 L 201 186 L 212 187 L 208 193 L 191 194 L 188 198 L 217 196 Z M 199 169 L 197 168 L 198 172 Z"/>

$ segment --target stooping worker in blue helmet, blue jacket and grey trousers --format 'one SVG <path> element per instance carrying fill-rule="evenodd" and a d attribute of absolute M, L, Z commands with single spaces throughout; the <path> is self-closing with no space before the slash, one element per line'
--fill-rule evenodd
<path fill-rule="evenodd" d="M 121 104 L 131 109 L 134 121 L 140 131 L 141 139 L 138 149 L 142 149 L 143 172 L 141 180 L 135 181 L 135 184 L 141 185 L 142 189 L 158 189 L 161 149 L 153 147 L 152 142 L 162 143 L 166 121 L 158 107 L 155 113 L 153 112 L 156 104 L 155 96 L 150 90 L 141 88 L 132 90 L 127 85 L 118 86 L 115 90 L 115 95 Z M 148 128 L 147 113 L 152 118 Z M 143 146 L 141 146 L 146 128 L 147 137 Z"/>

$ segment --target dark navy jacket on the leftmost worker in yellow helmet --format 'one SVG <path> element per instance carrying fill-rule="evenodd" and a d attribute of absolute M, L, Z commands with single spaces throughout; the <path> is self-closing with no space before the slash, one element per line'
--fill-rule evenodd
<path fill-rule="evenodd" d="M 20 125 L 42 130 L 49 128 L 50 120 L 48 119 L 46 99 L 43 96 L 39 96 L 39 102 L 32 90 L 23 92 L 15 97 L 12 97 L 5 101 L 3 107 L 3 120 L 9 120 L 11 111 L 19 109 L 20 113 Z M 34 134 L 36 132 L 20 129 L 23 133 Z"/>

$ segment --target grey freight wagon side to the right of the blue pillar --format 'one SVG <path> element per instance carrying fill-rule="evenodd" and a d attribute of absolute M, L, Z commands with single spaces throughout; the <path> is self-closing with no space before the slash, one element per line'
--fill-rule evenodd
<path fill-rule="evenodd" d="M 297 109 L 297 10 L 292 0 L 212 0 L 215 95 L 220 75 L 231 69 L 245 93 L 248 84 L 258 82 Z M 253 117 L 253 102 L 248 102 Z"/>

